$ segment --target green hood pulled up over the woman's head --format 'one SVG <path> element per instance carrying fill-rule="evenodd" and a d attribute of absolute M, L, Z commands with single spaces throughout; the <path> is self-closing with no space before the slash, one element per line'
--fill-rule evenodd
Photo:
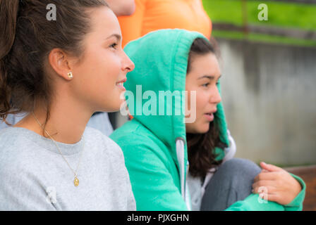
<path fill-rule="evenodd" d="M 185 143 L 187 160 L 184 91 L 190 48 L 198 37 L 205 38 L 198 32 L 158 30 L 131 41 L 124 49 L 135 63 L 135 70 L 128 73 L 124 84 L 130 114 L 171 149 L 175 161 L 178 139 Z M 228 145 L 221 103 L 214 122 L 219 122 L 220 139 Z M 224 150 L 217 149 L 217 153 Z"/>

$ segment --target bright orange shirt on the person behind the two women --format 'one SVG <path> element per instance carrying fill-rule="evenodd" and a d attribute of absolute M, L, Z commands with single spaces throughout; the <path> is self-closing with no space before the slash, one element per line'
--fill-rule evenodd
<path fill-rule="evenodd" d="M 133 15 L 119 17 L 123 46 L 148 32 L 168 28 L 197 31 L 209 38 L 212 23 L 202 0 L 135 0 Z"/>

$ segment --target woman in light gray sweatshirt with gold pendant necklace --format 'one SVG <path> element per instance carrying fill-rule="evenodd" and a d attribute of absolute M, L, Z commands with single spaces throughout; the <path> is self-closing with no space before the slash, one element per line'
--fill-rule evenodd
<path fill-rule="evenodd" d="M 121 148 L 87 127 L 119 110 L 133 62 L 103 0 L 0 0 L 0 210 L 135 210 Z"/>

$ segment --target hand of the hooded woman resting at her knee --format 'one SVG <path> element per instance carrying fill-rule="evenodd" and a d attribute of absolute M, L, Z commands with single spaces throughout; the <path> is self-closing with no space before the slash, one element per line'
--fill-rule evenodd
<path fill-rule="evenodd" d="M 262 172 L 255 177 L 253 193 L 259 193 L 259 188 L 263 186 L 267 190 L 267 200 L 287 205 L 302 190 L 300 183 L 286 170 L 265 162 L 261 162 L 260 166 Z"/>

